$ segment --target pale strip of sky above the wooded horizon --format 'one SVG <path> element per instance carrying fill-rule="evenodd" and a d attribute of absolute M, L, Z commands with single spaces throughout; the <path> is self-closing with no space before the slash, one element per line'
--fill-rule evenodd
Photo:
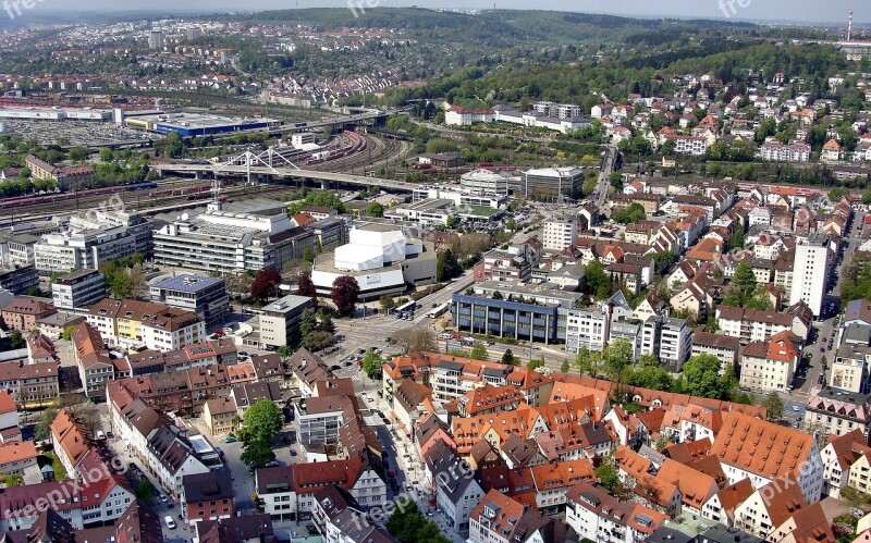
<path fill-rule="evenodd" d="M 713 20 L 842 23 L 854 11 L 857 24 L 871 24 L 869 0 L 36 0 L 40 11 L 260 11 L 292 8 L 373 5 L 463 9 L 529 9 L 637 16 L 680 16 Z"/>

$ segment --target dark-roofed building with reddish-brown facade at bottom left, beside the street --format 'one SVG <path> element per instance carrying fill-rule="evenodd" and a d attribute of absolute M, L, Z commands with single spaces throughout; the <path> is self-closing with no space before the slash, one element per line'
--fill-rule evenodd
<path fill-rule="evenodd" d="M 236 516 L 233 482 L 220 472 L 207 471 L 182 477 L 179 503 L 184 504 L 182 513 L 192 527 L 203 520 Z"/>

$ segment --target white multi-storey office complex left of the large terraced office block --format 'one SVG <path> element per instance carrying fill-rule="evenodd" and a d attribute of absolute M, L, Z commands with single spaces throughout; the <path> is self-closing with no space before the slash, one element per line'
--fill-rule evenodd
<path fill-rule="evenodd" d="M 66 230 L 45 234 L 34 245 L 40 274 L 50 275 L 88 268 L 139 254 L 151 256 L 151 221 L 125 211 L 94 210 L 70 218 Z"/>

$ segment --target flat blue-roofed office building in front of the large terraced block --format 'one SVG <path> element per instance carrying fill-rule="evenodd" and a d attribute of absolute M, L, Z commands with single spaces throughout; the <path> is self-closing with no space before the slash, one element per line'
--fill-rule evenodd
<path fill-rule="evenodd" d="M 151 285 L 151 301 L 197 313 L 206 329 L 223 323 L 230 312 L 230 297 L 222 277 L 183 274 Z"/>

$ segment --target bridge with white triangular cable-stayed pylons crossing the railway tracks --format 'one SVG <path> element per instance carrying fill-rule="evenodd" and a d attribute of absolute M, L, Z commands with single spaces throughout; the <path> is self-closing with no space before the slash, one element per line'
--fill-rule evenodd
<path fill-rule="evenodd" d="M 354 185 L 365 187 L 380 187 L 393 192 L 410 193 L 414 183 L 404 181 L 368 177 L 366 175 L 352 175 L 347 173 L 320 172 L 303 170 L 285 157 L 272 149 L 255 155 L 246 151 L 223 163 L 155 163 L 152 170 L 162 173 L 180 175 L 194 174 L 197 178 L 232 178 L 245 177 L 250 183 L 269 182 L 273 178 L 320 182 L 322 189 L 328 190 L 333 185 Z"/>

